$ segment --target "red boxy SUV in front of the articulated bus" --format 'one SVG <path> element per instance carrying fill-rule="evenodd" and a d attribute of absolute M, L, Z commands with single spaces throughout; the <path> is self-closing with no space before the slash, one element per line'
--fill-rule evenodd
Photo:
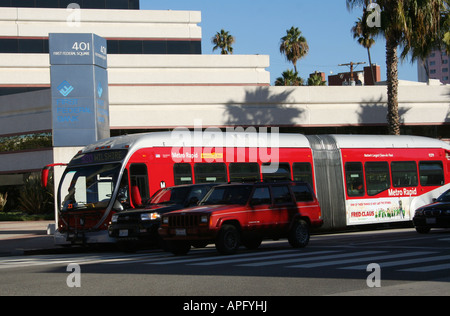
<path fill-rule="evenodd" d="M 161 222 L 159 234 L 177 255 L 199 243 L 234 254 L 241 243 L 256 249 L 264 238 L 306 247 L 310 227 L 323 224 L 319 202 L 303 182 L 219 185 L 199 206 L 164 214 Z"/>

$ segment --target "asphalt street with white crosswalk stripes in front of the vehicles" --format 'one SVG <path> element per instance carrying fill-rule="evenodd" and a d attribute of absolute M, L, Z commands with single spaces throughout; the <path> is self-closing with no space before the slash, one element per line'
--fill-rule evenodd
<path fill-rule="evenodd" d="M 368 269 L 369 264 L 375 265 Z M 449 230 L 314 235 L 305 249 L 293 249 L 285 240 L 266 241 L 258 250 L 241 248 L 232 256 L 218 255 L 209 245 L 187 256 L 156 249 L 133 254 L 68 250 L 0 261 L 1 296 L 448 294 Z"/>

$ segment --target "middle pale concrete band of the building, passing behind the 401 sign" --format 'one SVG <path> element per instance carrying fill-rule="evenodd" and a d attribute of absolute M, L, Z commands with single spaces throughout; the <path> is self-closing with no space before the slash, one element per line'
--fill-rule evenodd
<path fill-rule="evenodd" d="M 108 55 L 110 85 L 269 85 L 266 55 Z M 50 86 L 48 54 L 0 54 L 0 86 Z"/>

